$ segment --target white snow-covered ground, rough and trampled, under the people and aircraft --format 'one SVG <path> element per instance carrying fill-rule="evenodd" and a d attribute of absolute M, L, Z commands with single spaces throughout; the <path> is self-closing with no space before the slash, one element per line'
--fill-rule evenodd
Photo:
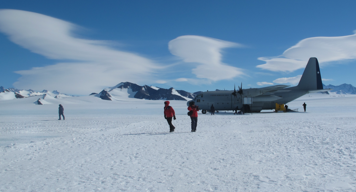
<path fill-rule="evenodd" d="M 186 101 L 171 101 L 169 133 L 164 101 L 40 97 L 0 101 L 0 191 L 356 191 L 354 96 L 199 113 L 194 133 Z"/>

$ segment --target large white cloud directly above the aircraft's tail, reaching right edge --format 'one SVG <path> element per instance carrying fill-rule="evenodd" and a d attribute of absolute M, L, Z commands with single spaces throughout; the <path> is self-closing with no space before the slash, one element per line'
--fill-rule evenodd
<path fill-rule="evenodd" d="M 356 34 L 342 37 L 312 37 L 303 39 L 277 57 L 260 57 L 266 64 L 257 65 L 271 71 L 295 71 L 304 68 L 310 57 L 319 64 L 356 59 Z"/>

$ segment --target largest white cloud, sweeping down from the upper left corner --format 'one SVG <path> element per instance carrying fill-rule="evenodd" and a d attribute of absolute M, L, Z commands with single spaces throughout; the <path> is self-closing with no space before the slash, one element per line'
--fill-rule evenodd
<path fill-rule="evenodd" d="M 12 42 L 49 59 L 77 61 L 16 71 L 22 76 L 14 86 L 86 95 L 121 81 L 140 83 L 145 79 L 147 83 L 160 68 L 150 59 L 115 50 L 104 41 L 76 38 L 73 31 L 78 28 L 34 12 L 0 10 L 0 31 Z"/>

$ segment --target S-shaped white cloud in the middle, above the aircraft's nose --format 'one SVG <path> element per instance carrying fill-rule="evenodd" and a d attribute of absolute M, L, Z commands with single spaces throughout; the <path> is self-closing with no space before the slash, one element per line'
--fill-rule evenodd
<path fill-rule="evenodd" d="M 168 43 L 169 51 L 187 63 L 199 63 L 192 73 L 213 81 L 241 76 L 241 69 L 221 62 L 221 50 L 241 44 L 201 36 L 180 36 Z"/>

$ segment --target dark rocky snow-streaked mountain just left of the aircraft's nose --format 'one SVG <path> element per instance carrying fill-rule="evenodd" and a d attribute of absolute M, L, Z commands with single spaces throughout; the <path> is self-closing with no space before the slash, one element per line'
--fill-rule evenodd
<path fill-rule="evenodd" d="M 131 82 L 121 82 L 114 87 L 109 87 L 95 95 L 104 100 L 122 100 L 122 98 L 139 98 L 146 100 L 183 100 L 188 101 L 195 94 L 183 90 L 175 90 L 173 87 L 163 89 L 154 86 L 140 86 Z"/>

